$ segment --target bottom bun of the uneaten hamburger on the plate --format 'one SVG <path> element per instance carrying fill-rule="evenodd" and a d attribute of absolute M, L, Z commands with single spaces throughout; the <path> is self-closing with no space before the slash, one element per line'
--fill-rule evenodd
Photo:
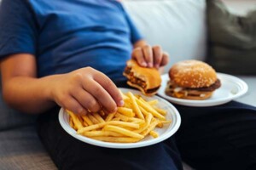
<path fill-rule="evenodd" d="M 172 88 L 166 88 L 166 95 L 172 96 L 178 99 L 195 99 L 195 100 L 203 100 L 209 99 L 214 91 L 206 92 L 206 91 L 199 91 L 195 89 L 185 89 L 179 92 L 174 92 Z"/>

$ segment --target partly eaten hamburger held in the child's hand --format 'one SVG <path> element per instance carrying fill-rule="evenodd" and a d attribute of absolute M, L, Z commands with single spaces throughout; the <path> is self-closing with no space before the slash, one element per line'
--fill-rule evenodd
<path fill-rule="evenodd" d="M 127 77 L 128 85 L 138 88 L 145 95 L 152 96 L 160 88 L 160 72 L 156 68 L 142 67 L 134 59 L 126 62 L 123 75 Z"/>

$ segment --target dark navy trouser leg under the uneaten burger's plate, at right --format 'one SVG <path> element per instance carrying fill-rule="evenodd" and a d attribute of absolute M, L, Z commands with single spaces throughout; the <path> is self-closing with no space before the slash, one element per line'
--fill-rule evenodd
<path fill-rule="evenodd" d="M 213 107 L 175 105 L 183 161 L 201 170 L 256 169 L 256 107 L 230 102 Z"/>

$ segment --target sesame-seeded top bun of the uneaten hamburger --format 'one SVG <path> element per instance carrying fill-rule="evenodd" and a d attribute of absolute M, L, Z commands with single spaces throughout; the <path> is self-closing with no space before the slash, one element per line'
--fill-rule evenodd
<path fill-rule="evenodd" d="M 183 60 L 172 65 L 169 71 L 172 82 L 183 88 L 209 87 L 217 80 L 212 66 L 199 60 Z"/>

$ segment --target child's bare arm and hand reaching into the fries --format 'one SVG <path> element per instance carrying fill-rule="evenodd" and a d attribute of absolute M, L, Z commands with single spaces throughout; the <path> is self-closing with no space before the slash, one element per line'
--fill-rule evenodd
<path fill-rule="evenodd" d="M 122 96 L 102 72 L 85 67 L 67 74 L 37 78 L 35 57 L 14 54 L 1 61 L 3 98 L 20 111 L 42 113 L 55 103 L 75 113 L 108 112 L 122 105 Z"/>

